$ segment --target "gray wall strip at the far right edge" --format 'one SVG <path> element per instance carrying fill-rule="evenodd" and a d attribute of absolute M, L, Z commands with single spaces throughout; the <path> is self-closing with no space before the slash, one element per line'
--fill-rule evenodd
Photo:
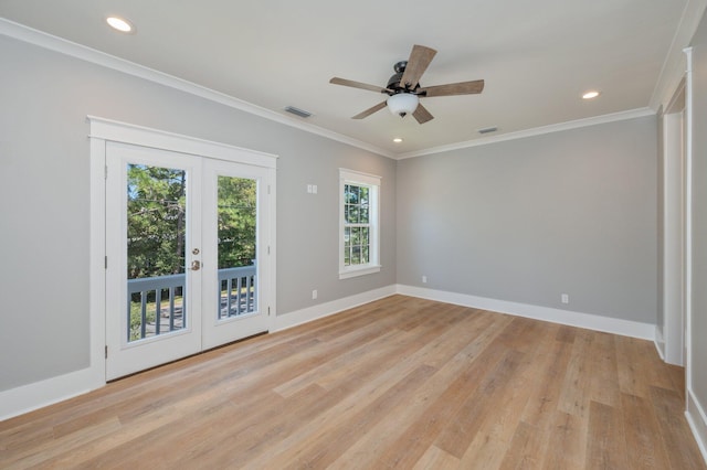
<path fill-rule="evenodd" d="M 707 408 L 707 18 L 693 38 L 692 388 Z M 705 424 L 703 423 L 703 426 Z"/>

